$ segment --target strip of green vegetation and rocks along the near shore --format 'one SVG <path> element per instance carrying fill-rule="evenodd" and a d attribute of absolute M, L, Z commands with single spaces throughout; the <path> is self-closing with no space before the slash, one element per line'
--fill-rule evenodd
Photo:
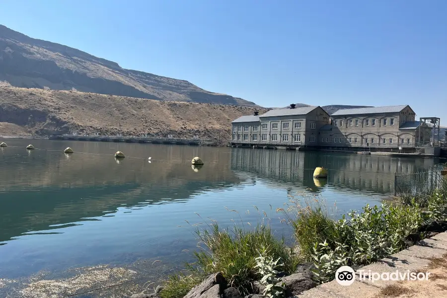
<path fill-rule="evenodd" d="M 414 193 L 380 206 L 366 205 L 339 220 L 319 197 L 290 197 L 276 212 L 294 230 L 295 244 L 264 221 L 224 229 L 212 222 L 196 230 L 202 249 L 183 272 L 134 298 L 292 297 L 335 278 L 344 265 L 359 269 L 447 230 L 447 177 L 429 195 Z M 236 212 L 236 211 L 233 211 Z M 260 213 L 262 215 L 262 213 Z"/>

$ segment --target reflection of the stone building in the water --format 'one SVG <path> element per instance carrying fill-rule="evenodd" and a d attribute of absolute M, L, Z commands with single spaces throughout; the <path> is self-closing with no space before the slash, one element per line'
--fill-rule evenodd
<path fill-rule="evenodd" d="M 340 154 L 312 151 L 232 148 L 231 170 L 256 174 L 269 184 L 294 191 L 333 191 L 389 195 L 393 193 L 394 172 L 410 174 L 436 164 L 432 158 L 402 158 L 381 155 Z M 314 179 L 313 171 L 329 169 L 325 179 Z"/>

